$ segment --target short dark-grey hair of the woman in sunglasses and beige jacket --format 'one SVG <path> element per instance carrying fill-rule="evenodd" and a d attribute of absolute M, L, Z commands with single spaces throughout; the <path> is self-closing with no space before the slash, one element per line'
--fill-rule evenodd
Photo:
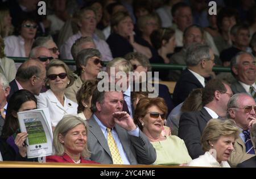
<path fill-rule="evenodd" d="M 98 51 L 98 49 L 94 48 L 88 48 L 88 49 L 82 49 L 78 54 L 77 54 L 77 59 L 76 59 L 76 70 L 78 75 L 80 76 L 81 74 L 81 65 L 86 66 L 87 61 L 92 58 L 92 57 L 98 57 L 102 58 L 101 52 Z"/>

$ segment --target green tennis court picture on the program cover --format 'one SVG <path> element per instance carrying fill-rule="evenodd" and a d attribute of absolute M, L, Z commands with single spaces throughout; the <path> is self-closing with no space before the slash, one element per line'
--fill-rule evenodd
<path fill-rule="evenodd" d="M 25 123 L 28 134 L 28 145 L 47 143 L 46 134 L 40 121 Z"/>

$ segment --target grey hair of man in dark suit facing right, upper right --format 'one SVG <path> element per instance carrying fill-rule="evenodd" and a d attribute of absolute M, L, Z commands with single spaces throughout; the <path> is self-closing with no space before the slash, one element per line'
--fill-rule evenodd
<path fill-rule="evenodd" d="M 203 59 L 210 60 L 209 45 L 202 45 L 200 43 L 192 43 L 189 45 L 185 59 L 187 66 L 196 66 Z"/>

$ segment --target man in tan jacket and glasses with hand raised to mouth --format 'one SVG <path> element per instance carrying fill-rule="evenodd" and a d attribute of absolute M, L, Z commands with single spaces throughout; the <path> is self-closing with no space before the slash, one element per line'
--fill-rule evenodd
<path fill-rule="evenodd" d="M 234 151 L 229 158 L 230 166 L 237 166 L 237 164 L 250 159 L 255 156 L 254 144 L 251 148 L 246 148 L 246 135 L 244 131 L 250 132 L 251 126 L 256 122 L 256 103 L 254 99 L 246 93 L 238 93 L 232 96 L 228 102 L 229 118 L 236 121 L 237 127 L 240 128 L 240 137 L 234 143 Z M 247 141 L 247 143 L 250 141 Z M 254 154 L 250 154 L 254 153 Z"/>

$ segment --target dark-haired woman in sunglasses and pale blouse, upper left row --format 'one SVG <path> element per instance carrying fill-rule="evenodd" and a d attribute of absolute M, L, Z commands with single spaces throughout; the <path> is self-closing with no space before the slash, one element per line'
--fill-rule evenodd
<path fill-rule="evenodd" d="M 35 19 L 24 16 L 16 28 L 15 35 L 6 37 L 5 54 L 12 57 L 28 57 L 36 35 L 38 25 Z"/>

